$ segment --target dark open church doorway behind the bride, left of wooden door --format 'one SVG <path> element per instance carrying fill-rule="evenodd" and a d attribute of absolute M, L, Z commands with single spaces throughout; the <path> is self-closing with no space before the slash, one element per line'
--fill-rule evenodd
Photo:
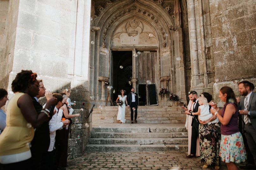
<path fill-rule="evenodd" d="M 112 59 L 113 101 L 116 101 L 121 89 L 128 95 L 132 88 L 132 51 L 112 51 Z"/>

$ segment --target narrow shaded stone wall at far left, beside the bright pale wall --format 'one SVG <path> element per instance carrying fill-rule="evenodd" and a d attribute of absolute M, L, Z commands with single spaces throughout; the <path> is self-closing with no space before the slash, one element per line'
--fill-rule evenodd
<path fill-rule="evenodd" d="M 8 87 L 9 73 L 13 65 L 18 9 L 19 0 L 0 2 L 0 88 L 5 89 Z"/>

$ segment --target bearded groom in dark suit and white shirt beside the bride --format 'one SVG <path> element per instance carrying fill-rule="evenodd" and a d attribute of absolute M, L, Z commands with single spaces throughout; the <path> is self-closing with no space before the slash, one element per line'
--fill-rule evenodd
<path fill-rule="evenodd" d="M 133 110 L 135 111 L 135 114 L 134 114 L 134 121 L 135 123 L 137 123 L 137 108 L 138 108 L 138 105 L 139 105 L 139 102 L 138 102 L 138 94 L 137 93 L 134 93 L 135 89 L 134 88 L 131 88 L 131 93 L 128 94 L 128 108 L 131 109 L 131 124 L 133 124 Z"/>

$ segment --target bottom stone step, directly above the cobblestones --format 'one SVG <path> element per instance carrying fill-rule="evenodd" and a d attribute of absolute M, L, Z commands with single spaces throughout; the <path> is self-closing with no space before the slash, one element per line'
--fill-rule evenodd
<path fill-rule="evenodd" d="M 141 152 L 172 151 L 186 152 L 187 144 L 88 144 L 87 151 L 100 152 Z"/>

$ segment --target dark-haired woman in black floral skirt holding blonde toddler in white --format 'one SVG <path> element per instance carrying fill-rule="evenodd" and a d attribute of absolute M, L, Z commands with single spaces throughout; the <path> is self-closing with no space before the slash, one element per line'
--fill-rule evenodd
<path fill-rule="evenodd" d="M 199 141 L 200 141 L 200 158 L 204 164 L 203 168 L 215 165 L 215 169 L 219 169 L 219 136 L 220 125 L 219 120 L 215 115 L 210 113 L 210 104 L 212 95 L 209 93 L 201 93 L 198 103 L 198 120 L 199 124 Z"/>

